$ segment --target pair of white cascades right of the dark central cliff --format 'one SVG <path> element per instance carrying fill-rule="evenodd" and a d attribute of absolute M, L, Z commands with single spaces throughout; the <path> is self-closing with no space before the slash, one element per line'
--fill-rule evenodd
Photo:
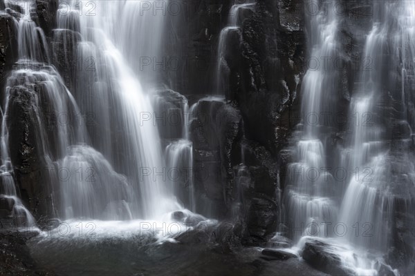
<path fill-rule="evenodd" d="M 337 91 L 338 72 L 330 63 L 320 63 L 303 79 L 302 131 L 297 161 L 288 165 L 284 195 L 286 222 L 297 247 L 304 247 L 310 239 L 304 235 L 324 241 L 328 243 L 326 252 L 340 256 L 342 266 L 358 275 L 377 275 L 380 264 L 385 264 L 382 254 L 393 244 L 396 204 L 399 210 L 411 206 L 415 184 L 414 156 L 408 151 L 412 144 L 408 121 L 412 119 L 406 103 L 400 101 L 412 97 L 405 88 L 411 87 L 407 72 L 413 71 L 414 1 L 376 2 L 374 10 L 378 13 L 366 39 L 360 82 L 356 83 L 347 115 L 351 134 L 347 147 L 334 148 L 332 155 L 339 156 L 336 161 L 326 152 L 331 125 L 307 121 L 311 115 L 335 114 L 333 92 Z M 337 17 L 329 8 L 309 19 L 311 57 L 320 62 L 335 60 L 340 50 Z M 369 70 L 365 67 L 368 58 Z M 390 66 L 391 62 L 396 62 L 396 67 Z M 396 68 L 399 77 L 390 73 Z M 396 91 L 396 86 L 402 86 L 398 90 L 402 95 L 387 91 Z M 397 112 L 385 112 L 385 106 L 392 106 L 394 99 L 400 101 L 394 106 Z M 396 129 L 404 130 L 394 133 Z M 346 181 L 339 185 L 324 170 L 330 167 L 328 161 L 340 164 L 347 172 Z M 342 188 L 341 184 L 347 186 Z M 344 233 L 338 233 L 338 225 Z"/>

